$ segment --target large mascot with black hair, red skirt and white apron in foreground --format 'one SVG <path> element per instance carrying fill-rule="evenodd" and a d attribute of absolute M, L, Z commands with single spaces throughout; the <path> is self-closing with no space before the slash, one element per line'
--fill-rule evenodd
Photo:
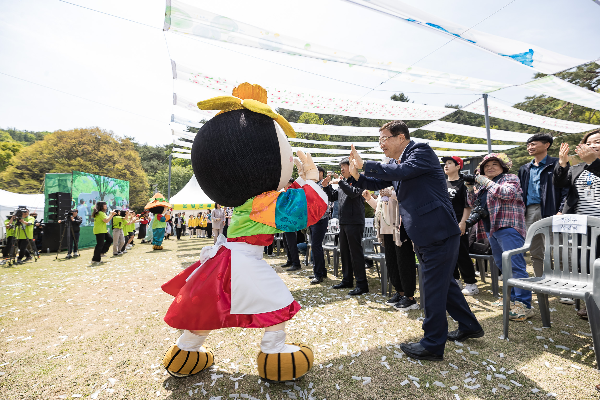
<path fill-rule="evenodd" d="M 175 297 L 164 321 L 184 329 L 163 358 L 172 375 L 196 374 L 211 366 L 214 354 L 203 344 L 212 329 L 224 327 L 265 328 L 257 365 L 266 380 L 294 380 L 313 365 L 307 345 L 286 343 L 285 323 L 300 305 L 262 253 L 275 233 L 319 221 L 328 202 L 315 183 L 319 172 L 310 154 L 299 151 L 300 160 L 293 158 L 286 135 L 296 134 L 266 101 L 261 86 L 242 83 L 233 96 L 198 103 L 202 110 L 221 112 L 196 134 L 194 175 L 215 203 L 235 210 L 227 238 L 220 235 L 214 246 L 202 249 L 199 261 L 162 287 Z M 280 191 L 294 164 L 300 178 Z"/>

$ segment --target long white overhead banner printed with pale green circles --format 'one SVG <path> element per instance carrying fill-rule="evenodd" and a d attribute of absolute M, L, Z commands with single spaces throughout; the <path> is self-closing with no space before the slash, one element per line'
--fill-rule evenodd
<path fill-rule="evenodd" d="M 306 40 L 281 35 L 177 0 L 167 1 L 164 30 L 323 61 L 341 62 L 350 67 L 361 66 L 365 67 L 365 71 L 385 71 L 389 78 L 422 85 L 433 84 L 476 92 L 490 92 L 511 86 L 507 83 L 410 67 L 385 59 L 367 58 L 317 43 L 307 43 Z"/>

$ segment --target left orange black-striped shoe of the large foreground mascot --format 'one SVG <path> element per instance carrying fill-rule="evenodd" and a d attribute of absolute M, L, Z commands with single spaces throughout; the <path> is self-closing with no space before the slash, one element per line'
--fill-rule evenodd
<path fill-rule="evenodd" d="M 164 353 L 163 366 L 169 374 L 177 378 L 197 374 L 211 366 L 215 360 L 210 347 L 202 348 L 204 351 L 185 351 L 173 344 Z"/>

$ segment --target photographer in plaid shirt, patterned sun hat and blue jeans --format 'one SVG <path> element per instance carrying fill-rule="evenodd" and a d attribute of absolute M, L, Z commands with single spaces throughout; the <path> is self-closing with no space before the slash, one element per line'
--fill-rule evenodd
<path fill-rule="evenodd" d="M 517 175 L 509 174 L 512 160 L 504 153 L 490 153 L 475 169 L 476 174 L 465 175 L 469 191 L 467 200 L 473 211 L 467 226 L 475 225 L 477 239 L 488 237 L 494 261 L 502 271 L 502 252 L 520 248 L 525 243 L 525 203 L 523 190 Z M 475 183 L 481 185 L 475 193 Z M 523 254 L 512 256 L 512 276 L 528 278 Z M 511 289 L 509 318 L 525 321 L 533 317 L 531 291 L 513 287 Z M 502 297 L 493 306 L 502 307 Z"/>

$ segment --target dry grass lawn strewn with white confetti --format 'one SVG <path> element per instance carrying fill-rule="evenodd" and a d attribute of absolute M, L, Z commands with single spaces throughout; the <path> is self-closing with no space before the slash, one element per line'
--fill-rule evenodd
<path fill-rule="evenodd" d="M 531 323 L 511 321 L 506 341 L 499 339 L 502 310 L 490 306 L 496 300 L 490 281 L 479 282 L 479 294 L 467 301 L 485 336 L 463 346 L 449 342 L 443 362 L 413 363 L 397 346 L 421 339 L 422 311 L 385 306 L 375 268 L 367 273 L 371 293 L 347 297 L 348 289 L 329 288 L 340 281 L 332 274 L 323 284 L 310 285 L 311 270 L 304 264 L 301 271 L 286 272 L 280 267 L 283 254 L 265 259 L 303 307 L 287 323 L 287 339 L 313 348 L 313 369 L 297 386 L 267 386 L 254 367 L 263 330 L 228 328 L 206 340 L 214 349 L 214 371 L 170 377 L 161 359 L 180 331 L 162 319 L 172 297 L 160 286 L 197 261 L 212 239 L 165 240 L 161 251 L 136 243 L 127 254 L 109 252 L 100 264 L 92 264 L 93 249 L 85 249 L 71 260 L 63 252 L 58 260 L 43 254 L 37 262 L 0 266 L 2 398 L 275 400 L 300 399 L 304 390 L 304 398 L 318 400 L 541 399 L 550 393 L 560 399 L 598 398 L 592 338 L 580 333 L 590 333 L 590 326 L 575 315 L 574 306 L 557 298 L 550 299 L 556 309 L 552 329 L 535 329 L 541 318 L 534 293 Z M 457 328 L 450 317 L 448 323 L 450 330 Z M 213 380 L 215 375 L 223 377 Z"/>

